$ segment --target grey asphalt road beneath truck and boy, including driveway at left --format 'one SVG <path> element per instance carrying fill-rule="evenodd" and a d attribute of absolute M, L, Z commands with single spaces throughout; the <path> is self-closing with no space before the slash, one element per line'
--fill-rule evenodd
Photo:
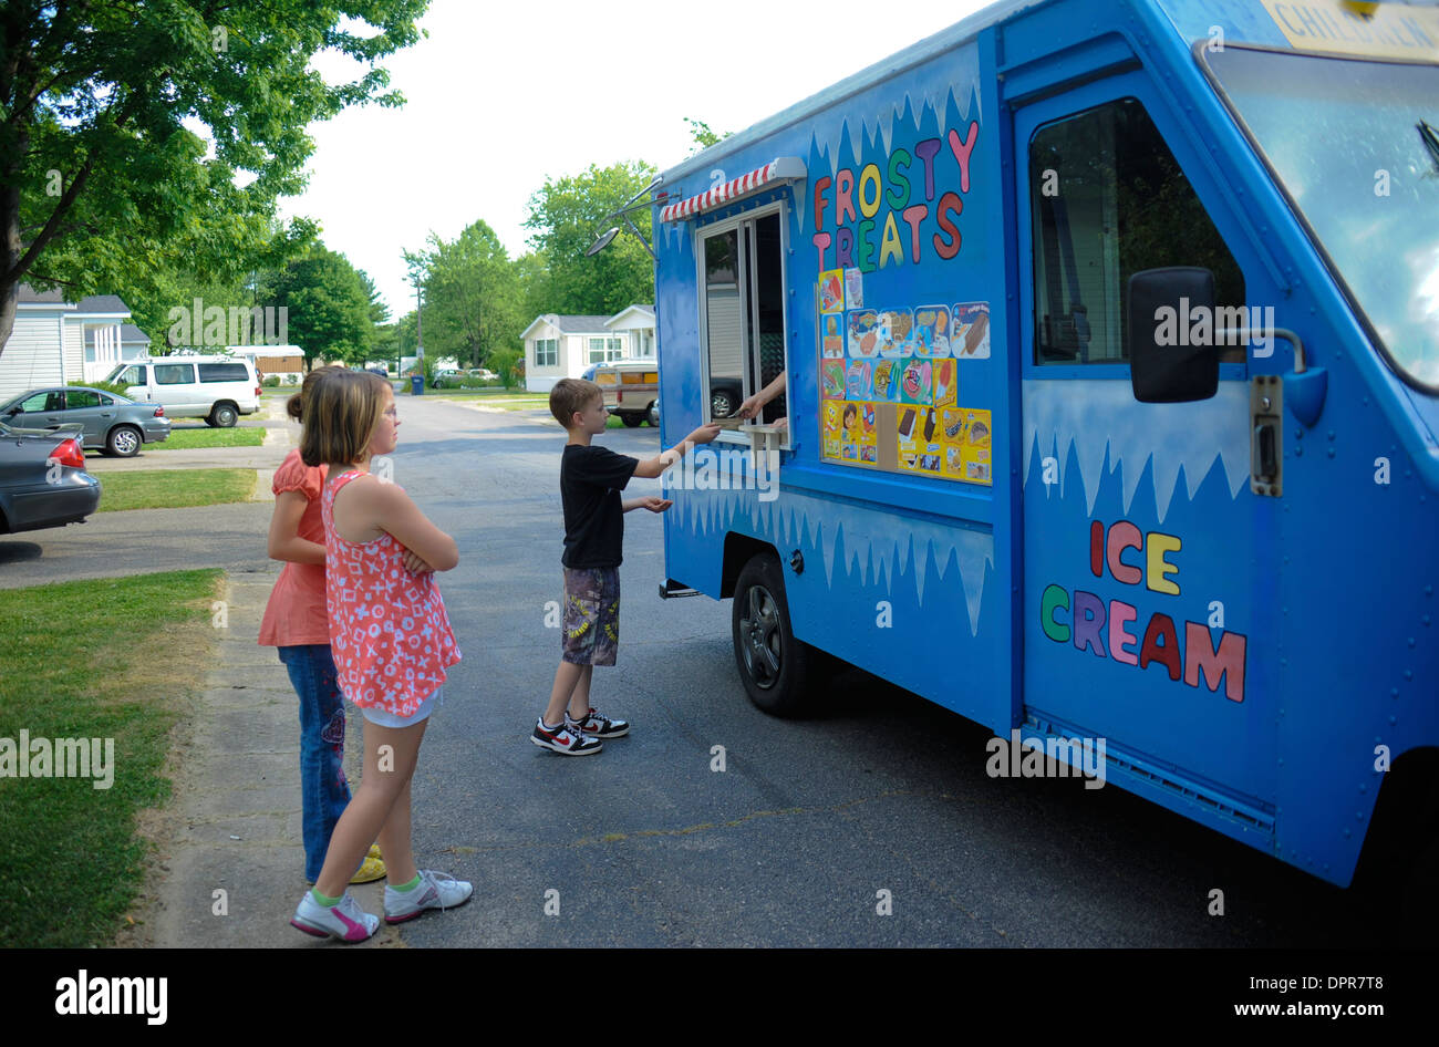
<path fill-rule="evenodd" d="M 662 601 L 662 521 L 626 516 L 620 654 L 597 756 L 528 733 L 558 662 L 558 427 L 400 400 L 394 479 L 455 535 L 465 653 L 414 784 L 422 864 L 473 880 L 410 945 L 1335 946 L 1402 939 L 1360 900 L 1118 788 L 991 779 L 989 732 L 861 672 L 816 718 L 744 696 L 730 604 Z M 658 434 L 610 430 L 648 456 Z M 275 449 L 275 460 L 283 449 Z M 630 490 L 656 490 L 637 480 Z M 0 541 L 0 585 L 263 558 L 268 505 L 104 513 Z M 24 547 L 35 545 L 37 552 Z M 712 769 L 724 746 L 725 769 Z M 1225 915 L 1209 915 L 1213 890 Z M 548 910 L 548 912 L 547 912 Z M 888 910 L 888 912 L 886 912 Z"/>

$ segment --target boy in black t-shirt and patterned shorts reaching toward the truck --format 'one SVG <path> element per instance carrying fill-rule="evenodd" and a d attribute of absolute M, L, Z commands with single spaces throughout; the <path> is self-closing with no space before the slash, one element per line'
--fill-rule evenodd
<path fill-rule="evenodd" d="M 590 706 L 594 666 L 613 666 L 620 639 L 620 558 L 625 513 L 630 509 L 663 512 L 672 502 L 658 495 L 620 499 L 632 476 L 653 479 L 689 450 L 709 443 L 720 426 L 701 426 L 672 450 L 652 459 L 616 454 L 590 446 L 604 431 L 609 413 L 604 393 L 593 381 L 561 378 L 550 390 L 550 413 L 570 434 L 560 462 L 560 498 L 564 503 L 564 621 L 563 654 L 554 675 L 550 705 L 530 741 L 567 756 L 584 756 L 603 748 L 602 738 L 629 733 L 626 721 L 602 716 Z"/>

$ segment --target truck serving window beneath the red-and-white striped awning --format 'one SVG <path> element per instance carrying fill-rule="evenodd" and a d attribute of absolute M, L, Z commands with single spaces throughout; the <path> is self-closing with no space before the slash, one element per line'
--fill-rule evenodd
<path fill-rule="evenodd" d="M 780 213 L 704 233 L 702 244 L 709 416 L 725 419 L 787 372 Z M 786 417 L 786 400 L 766 404 L 761 420 Z"/>

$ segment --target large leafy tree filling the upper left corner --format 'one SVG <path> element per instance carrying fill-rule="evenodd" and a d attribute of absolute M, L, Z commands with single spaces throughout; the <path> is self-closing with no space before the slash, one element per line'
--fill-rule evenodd
<path fill-rule="evenodd" d="M 307 127 L 403 102 L 374 63 L 414 43 L 427 3 L 6 0 L 0 347 L 22 282 L 150 301 L 173 291 L 154 276 L 173 259 L 219 285 L 281 265 L 295 242 L 276 236 L 275 201 L 304 186 Z M 309 68 L 325 49 L 370 69 L 330 86 Z M 181 121 L 204 127 L 213 155 Z"/>

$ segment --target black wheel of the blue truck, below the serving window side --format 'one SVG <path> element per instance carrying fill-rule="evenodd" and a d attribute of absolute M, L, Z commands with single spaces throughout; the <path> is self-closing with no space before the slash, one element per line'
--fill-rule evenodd
<path fill-rule="evenodd" d="M 794 639 L 784 571 L 774 554 L 760 554 L 740 571 L 731 608 L 734 660 L 755 706 L 773 716 L 799 716 L 816 690 L 819 651 Z"/>

